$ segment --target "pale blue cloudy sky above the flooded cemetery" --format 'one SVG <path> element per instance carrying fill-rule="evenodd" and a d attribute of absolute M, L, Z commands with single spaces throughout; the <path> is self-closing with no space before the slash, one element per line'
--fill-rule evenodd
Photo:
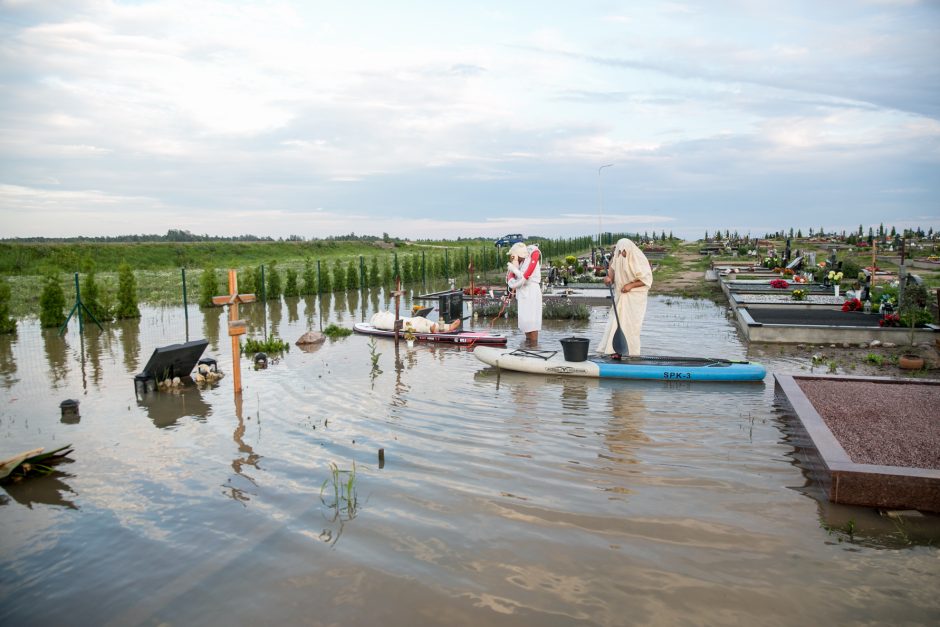
<path fill-rule="evenodd" d="M 0 237 L 880 222 L 940 228 L 938 0 L 0 0 Z"/>

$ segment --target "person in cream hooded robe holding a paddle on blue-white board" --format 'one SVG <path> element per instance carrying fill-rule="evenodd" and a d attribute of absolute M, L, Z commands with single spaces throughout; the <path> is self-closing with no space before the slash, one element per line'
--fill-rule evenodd
<path fill-rule="evenodd" d="M 617 241 L 614 257 L 604 277 L 605 285 L 614 286 L 614 307 L 620 318 L 620 327 L 627 339 L 630 356 L 640 354 L 640 330 L 646 316 L 646 298 L 653 285 L 653 270 L 643 251 L 631 240 L 623 238 Z M 601 336 L 600 353 L 619 359 L 613 347 L 614 333 L 617 330 L 617 318 L 610 312 L 607 328 Z"/>

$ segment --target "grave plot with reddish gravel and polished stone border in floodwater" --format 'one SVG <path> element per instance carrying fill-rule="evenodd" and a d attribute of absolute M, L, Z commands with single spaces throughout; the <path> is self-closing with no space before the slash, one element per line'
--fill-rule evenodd
<path fill-rule="evenodd" d="M 940 512 L 940 381 L 775 375 L 833 503 Z"/>

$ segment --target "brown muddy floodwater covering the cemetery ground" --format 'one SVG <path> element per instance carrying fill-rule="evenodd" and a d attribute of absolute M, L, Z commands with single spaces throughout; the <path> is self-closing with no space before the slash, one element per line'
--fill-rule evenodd
<path fill-rule="evenodd" d="M 245 309 L 253 335 L 265 314 L 293 343 L 380 306 L 372 292 Z M 189 335 L 230 373 L 223 315 L 190 308 Z M 546 323 L 541 344 L 596 341 L 606 316 Z M 55 475 L 0 491 L 0 623 L 940 618 L 940 517 L 829 504 L 769 375 L 497 376 L 466 349 L 396 354 L 389 340 L 375 341 L 373 369 L 369 338 L 351 336 L 292 346 L 266 370 L 243 362 L 240 405 L 231 377 L 136 396 L 153 349 L 184 339 L 182 308 L 143 308 L 84 341 L 75 325 L 58 338 L 35 321 L 0 336 L 0 457 L 75 447 Z M 650 354 L 747 355 L 725 308 L 704 301 L 653 298 L 643 341 Z M 798 371 L 788 359 L 762 361 Z M 78 422 L 60 418 L 67 398 L 81 402 Z"/>

